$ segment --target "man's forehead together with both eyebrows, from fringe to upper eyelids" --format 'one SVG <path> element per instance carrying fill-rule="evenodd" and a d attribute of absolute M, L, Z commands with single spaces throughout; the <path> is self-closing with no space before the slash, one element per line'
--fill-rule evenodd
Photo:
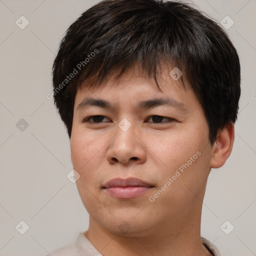
<path fill-rule="evenodd" d="M 150 109 L 157 106 L 173 107 L 180 112 L 187 112 L 191 102 L 196 100 L 190 87 L 184 87 L 180 81 L 173 79 L 168 69 L 158 75 L 157 88 L 153 78 L 141 75 L 136 69 L 126 70 L 116 78 L 113 72 L 102 84 L 90 84 L 84 81 L 75 96 L 75 109 L 101 107 L 110 110 L 127 107 Z M 190 103 L 188 103 L 190 101 Z"/>

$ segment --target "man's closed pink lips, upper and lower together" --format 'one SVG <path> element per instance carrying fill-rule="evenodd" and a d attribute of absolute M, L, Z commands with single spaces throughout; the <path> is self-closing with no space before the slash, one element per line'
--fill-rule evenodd
<path fill-rule="evenodd" d="M 110 195 L 120 199 L 137 197 L 153 187 L 152 184 L 141 179 L 129 177 L 126 179 L 113 178 L 108 180 L 102 188 Z"/>

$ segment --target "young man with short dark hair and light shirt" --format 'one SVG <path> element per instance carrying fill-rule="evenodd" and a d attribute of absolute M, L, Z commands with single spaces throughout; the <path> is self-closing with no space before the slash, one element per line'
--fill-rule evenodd
<path fill-rule="evenodd" d="M 53 87 L 89 227 L 51 255 L 220 255 L 200 218 L 240 96 L 221 27 L 178 1 L 101 1 L 67 29 Z"/>

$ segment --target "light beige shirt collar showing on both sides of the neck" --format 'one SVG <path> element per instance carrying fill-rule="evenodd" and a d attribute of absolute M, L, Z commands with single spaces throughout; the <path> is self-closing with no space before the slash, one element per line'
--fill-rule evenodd
<path fill-rule="evenodd" d="M 213 256 L 221 256 L 219 250 L 206 238 L 201 237 L 202 244 Z M 79 233 L 74 244 L 56 249 L 46 256 L 102 256 L 83 233 Z"/>

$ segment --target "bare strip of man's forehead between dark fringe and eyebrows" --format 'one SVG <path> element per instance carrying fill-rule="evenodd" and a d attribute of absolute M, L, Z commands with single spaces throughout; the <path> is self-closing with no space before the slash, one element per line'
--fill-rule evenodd
<path fill-rule="evenodd" d="M 121 75 L 119 75 L 120 70 L 121 68 L 111 70 L 100 83 L 97 82 L 97 76 L 83 80 L 77 86 L 77 92 L 100 93 L 100 91 L 107 92 L 108 90 L 114 90 L 117 93 L 117 91 L 123 91 L 125 87 L 129 86 L 130 91 L 139 89 L 148 90 L 150 88 L 156 93 L 159 91 L 166 93 L 166 88 L 171 87 L 172 90 L 186 90 L 190 87 L 181 70 L 177 67 L 172 68 L 166 64 L 158 66 L 155 77 L 152 73 L 148 74 L 138 64 L 126 68 Z"/>

